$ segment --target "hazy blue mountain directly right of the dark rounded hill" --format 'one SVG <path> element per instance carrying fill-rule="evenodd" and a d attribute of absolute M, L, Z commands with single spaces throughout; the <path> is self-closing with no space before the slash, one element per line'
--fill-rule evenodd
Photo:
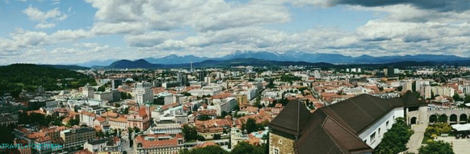
<path fill-rule="evenodd" d="M 165 57 L 161 58 L 144 58 L 144 60 L 154 63 L 154 64 L 185 64 L 185 63 L 197 63 L 197 62 L 202 62 L 205 60 L 210 60 L 212 58 L 207 58 L 207 57 L 196 57 L 192 55 L 187 55 L 187 56 L 177 56 L 175 54 L 168 55 Z"/>

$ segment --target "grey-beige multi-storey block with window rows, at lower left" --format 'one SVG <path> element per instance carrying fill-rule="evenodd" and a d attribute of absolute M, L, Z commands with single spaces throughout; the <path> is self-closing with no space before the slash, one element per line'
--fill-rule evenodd
<path fill-rule="evenodd" d="M 61 138 L 65 143 L 65 148 L 82 146 L 85 142 L 95 137 L 96 132 L 93 127 L 78 127 L 61 131 Z"/>

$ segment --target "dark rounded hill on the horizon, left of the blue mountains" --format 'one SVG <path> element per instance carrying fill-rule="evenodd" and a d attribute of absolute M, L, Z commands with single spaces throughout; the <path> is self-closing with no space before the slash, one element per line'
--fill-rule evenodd
<path fill-rule="evenodd" d="M 130 60 L 119 60 L 109 64 L 108 68 L 125 69 L 125 68 L 160 68 L 163 67 L 161 64 L 152 64 L 144 59 L 130 61 Z"/>

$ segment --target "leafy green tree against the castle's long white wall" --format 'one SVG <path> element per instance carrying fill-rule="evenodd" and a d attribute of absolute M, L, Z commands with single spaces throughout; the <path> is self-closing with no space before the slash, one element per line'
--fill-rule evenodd
<path fill-rule="evenodd" d="M 396 118 L 392 128 L 383 134 L 382 141 L 376 147 L 375 153 L 388 154 L 399 153 L 406 150 L 406 143 L 413 134 L 413 131 L 406 125 L 405 119 Z"/>

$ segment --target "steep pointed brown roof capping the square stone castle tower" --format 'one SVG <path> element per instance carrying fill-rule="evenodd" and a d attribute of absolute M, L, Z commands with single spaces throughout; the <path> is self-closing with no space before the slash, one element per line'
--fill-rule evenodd
<path fill-rule="evenodd" d="M 281 113 L 269 123 L 269 127 L 284 133 L 298 136 L 303 131 L 310 111 L 298 100 L 291 100 Z"/>

